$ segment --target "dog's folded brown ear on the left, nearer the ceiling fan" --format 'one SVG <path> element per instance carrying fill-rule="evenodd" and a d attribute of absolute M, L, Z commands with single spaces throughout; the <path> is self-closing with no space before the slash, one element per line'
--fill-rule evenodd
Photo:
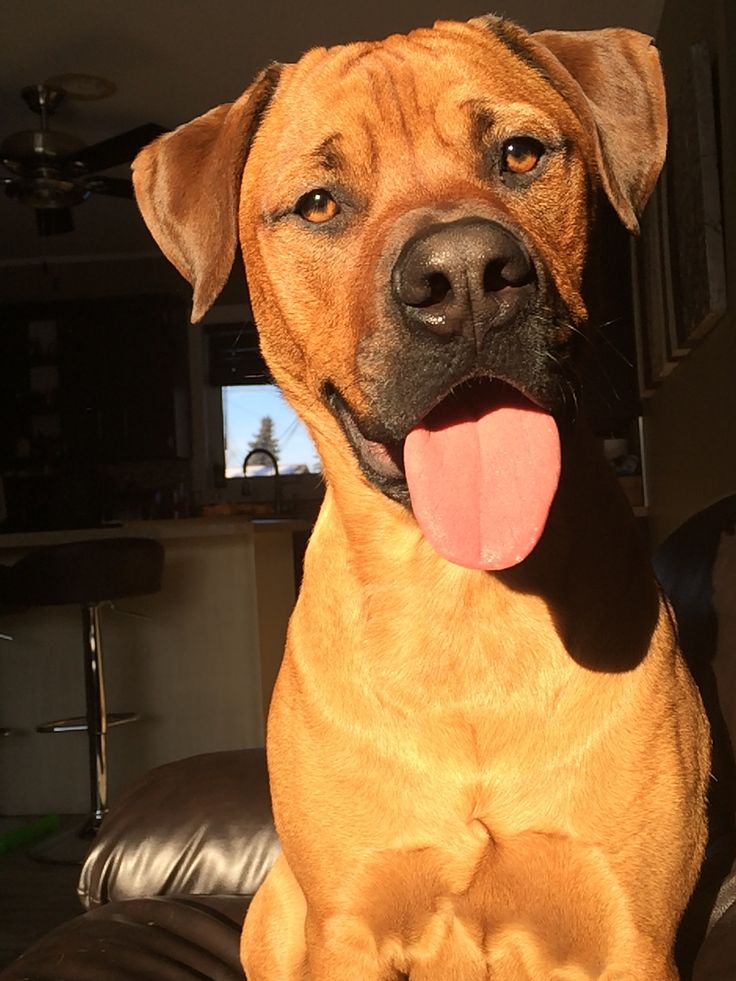
<path fill-rule="evenodd" d="M 230 275 L 243 168 L 280 74 L 281 65 L 271 65 L 236 102 L 160 136 L 133 162 L 143 219 L 194 289 L 193 322 L 205 315 Z"/>

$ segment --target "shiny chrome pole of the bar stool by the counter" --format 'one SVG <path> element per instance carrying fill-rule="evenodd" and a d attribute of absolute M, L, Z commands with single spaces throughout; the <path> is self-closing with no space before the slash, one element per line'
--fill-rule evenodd
<path fill-rule="evenodd" d="M 82 606 L 82 631 L 90 790 L 90 816 L 86 830 L 91 837 L 107 811 L 107 707 L 98 604 L 88 603 Z"/>

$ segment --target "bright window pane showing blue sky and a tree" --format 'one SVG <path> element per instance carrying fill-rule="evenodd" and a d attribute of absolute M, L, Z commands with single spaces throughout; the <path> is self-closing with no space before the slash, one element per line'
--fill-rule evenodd
<path fill-rule="evenodd" d="M 243 461 L 253 444 L 269 433 L 279 473 L 319 473 L 321 465 L 307 430 L 275 385 L 225 385 L 222 388 L 225 476 L 242 477 Z M 266 420 L 271 421 L 269 426 Z M 254 459 L 248 476 L 273 472 L 265 460 Z"/>

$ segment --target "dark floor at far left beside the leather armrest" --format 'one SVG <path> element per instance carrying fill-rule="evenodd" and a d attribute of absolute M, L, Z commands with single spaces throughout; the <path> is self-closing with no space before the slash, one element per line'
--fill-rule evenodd
<path fill-rule="evenodd" d="M 0 855 L 0 968 L 35 940 L 83 912 L 80 866 L 34 861 L 23 849 Z"/>

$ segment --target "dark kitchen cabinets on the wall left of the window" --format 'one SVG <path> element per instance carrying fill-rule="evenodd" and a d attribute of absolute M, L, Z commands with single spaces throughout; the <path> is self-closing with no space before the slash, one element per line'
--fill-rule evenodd
<path fill-rule="evenodd" d="M 0 313 L 5 469 L 189 456 L 187 316 L 166 296 Z"/>

